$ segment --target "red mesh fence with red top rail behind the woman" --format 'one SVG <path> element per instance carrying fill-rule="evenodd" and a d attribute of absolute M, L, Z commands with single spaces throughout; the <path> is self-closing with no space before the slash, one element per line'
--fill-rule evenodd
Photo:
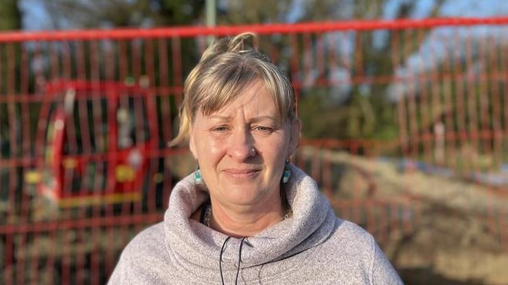
<path fill-rule="evenodd" d="M 3 284 L 106 282 L 195 167 L 167 145 L 207 36 L 246 31 L 300 102 L 336 114 L 293 160 L 339 216 L 384 243 L 450 200 L 508 251 L 506 17 L 14 32 L 0 34 Z M 369 137 L 376 112 L 395 129 Z"/>

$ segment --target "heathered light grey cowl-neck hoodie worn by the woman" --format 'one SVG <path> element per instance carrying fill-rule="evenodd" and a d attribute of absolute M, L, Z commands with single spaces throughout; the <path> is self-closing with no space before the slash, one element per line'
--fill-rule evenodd
<path fill-rule="evenodd" d="M 370 234 L 337 219 L 315 182 L 290 166 L 292 216 L 243 242 L 189 219 L 206 190 L 176 184 L 164 221 L 124 249 L 108 284 L 402 284 Z M 240 244 L 242 247 L 240 248 Z"/>

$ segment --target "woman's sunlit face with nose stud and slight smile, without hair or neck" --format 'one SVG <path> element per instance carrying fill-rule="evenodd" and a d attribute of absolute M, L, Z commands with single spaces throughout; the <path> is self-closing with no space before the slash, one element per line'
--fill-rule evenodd
<path fill-rule="evenodd" d="M 277 123 L 262 81 L 249 84 L 224 108 L 196 113 L 189 147 L 212 199 L 224 206 L 260 206 L 278 199 L 286 158 L 295 151 L 300 123 Z"/>

